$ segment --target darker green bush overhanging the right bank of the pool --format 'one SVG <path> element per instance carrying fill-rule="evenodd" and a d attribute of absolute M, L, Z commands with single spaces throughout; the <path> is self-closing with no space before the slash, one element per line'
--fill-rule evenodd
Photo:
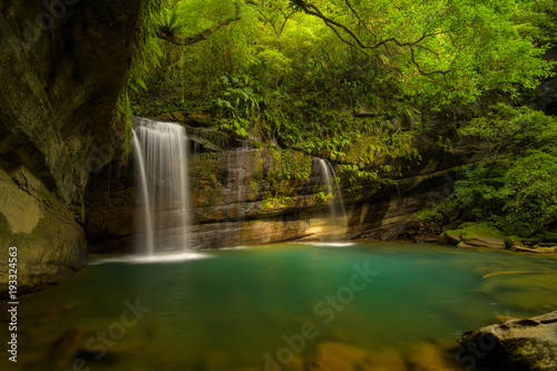
<path fill-rule="evenodd" d="M 466 134 L 488 140 L 491 153 L 466 166 L 455 193 L 422 211 L 423 221 L 485 221 L 528 236 L 557 219 L 557 118 L 499 105 Z"/>

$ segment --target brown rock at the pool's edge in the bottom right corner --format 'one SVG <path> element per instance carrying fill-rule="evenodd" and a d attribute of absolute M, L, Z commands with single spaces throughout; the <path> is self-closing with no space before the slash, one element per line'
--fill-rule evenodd
<path fill-rule="evenodd" d="M 477 351 L 476 357 L 470 352 L 461 360 L 481 370 L 556 371 L 557 311 L 470 331 L 460 342 L 463 349 Z"/>

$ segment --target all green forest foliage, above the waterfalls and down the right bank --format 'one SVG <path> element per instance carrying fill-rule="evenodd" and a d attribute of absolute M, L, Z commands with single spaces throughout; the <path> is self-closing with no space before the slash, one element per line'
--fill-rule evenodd
<path fill-rule="evenodd" d="M 548 76 L 540 57 L 556 20 L 553 0 L 153 0 L 121 102 L 328 158 L 356 186 L 391 182 L 392 159 L 419 158 L 412 138 L 433 117 L 453 128 L 473 119 L 467 133 L 495 153 L 466 170 L 441 214 L 529 227 L 555 216 L 554 154 L 497 140 L 551 136 L 554 124 L 489 107 L 524 105 Z"/>

